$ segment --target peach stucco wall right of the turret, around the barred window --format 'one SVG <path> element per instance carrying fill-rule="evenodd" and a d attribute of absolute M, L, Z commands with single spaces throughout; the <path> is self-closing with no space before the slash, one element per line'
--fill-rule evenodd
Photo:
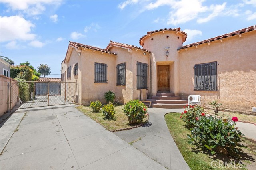
<path fill-rule="evenodd" d="M 252 111 L 256 106 L 256 31 L 179 50 L 180 95 L 201 95 L 202 102 L 218 100 L 224 108 Z M 219 91 L 194 91 L 194 65 L 217 61 Z"/>

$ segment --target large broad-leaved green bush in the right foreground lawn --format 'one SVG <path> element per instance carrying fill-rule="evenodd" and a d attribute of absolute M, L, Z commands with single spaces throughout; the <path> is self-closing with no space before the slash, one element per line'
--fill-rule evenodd
<path fill-rule="evenodd" d="M 234 120 L 237 121 L 237 118 L 235 117 Z M 242 133 L 235 128 L 235 125 L 236 122 L 231 119 L 203 116 L 194 123 L 195 127 L 191 129 L 192 135 L 188 135 L 189 143 L 196 142 L 203 145 L 212 154 L 217 152 L 227 155 L 229 152 L 238 152 L 236 146 L 240 142 Z"/>

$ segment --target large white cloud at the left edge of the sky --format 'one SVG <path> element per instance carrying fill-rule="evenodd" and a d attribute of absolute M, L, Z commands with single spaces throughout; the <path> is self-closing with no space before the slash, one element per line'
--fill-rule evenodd
<path fill-rule="evenodd" d="M 31 33 L 34 27 L 30 21 L 20 16 L 0 16 L 1 42 L 12 40 L 33 40 L 36 34 Z"/>

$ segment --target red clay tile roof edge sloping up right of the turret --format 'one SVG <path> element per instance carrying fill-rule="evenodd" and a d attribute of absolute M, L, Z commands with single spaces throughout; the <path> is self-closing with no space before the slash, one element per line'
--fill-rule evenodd
<path fill-rule="evenodd" d="M 210 38 L 210 39 L 207 39 L 207 40 L 203 40 L 203 41 L 200 41 L 200 42 L 188 44 L 188 45 L 185 45 L 185 46 L 181 47 L 180 49 L 185 49 L 185 48 L 193 47 L 193 46 L 200 45 L 200 44 L 203 44 L 203 43 L 208 43 L 208 42 L 212 42 L 212 41 L 216 41 L 216 40 L 221 40 L 223 38 L 236 36 L 238 34 L 242 34 L 242 33 L 253 31 L 253 30 L 256 30 L 256 25 L 255 26 L 250 26 L 248 28 L 243 28 L 242 30 L 237 30 L 237 31 L 234 31 L 234 32 L 230 32 L 230 33 L 224 34 L 222 36 L 217 36 L 217 37 Z M 178 50 L 180 50 L 180 49 L 178 49 Z"/>

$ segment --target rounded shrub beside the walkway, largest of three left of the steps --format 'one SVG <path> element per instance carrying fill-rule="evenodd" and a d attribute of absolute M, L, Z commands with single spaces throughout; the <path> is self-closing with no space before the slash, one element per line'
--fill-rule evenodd
<path fill-rule="evenodd" d="M 127 116 L 129 123 L 136 123 L 137 121 L 143 121 L 148 109 L 141 101 L 131 100 L 124 105 L 123 111 Z"/>

